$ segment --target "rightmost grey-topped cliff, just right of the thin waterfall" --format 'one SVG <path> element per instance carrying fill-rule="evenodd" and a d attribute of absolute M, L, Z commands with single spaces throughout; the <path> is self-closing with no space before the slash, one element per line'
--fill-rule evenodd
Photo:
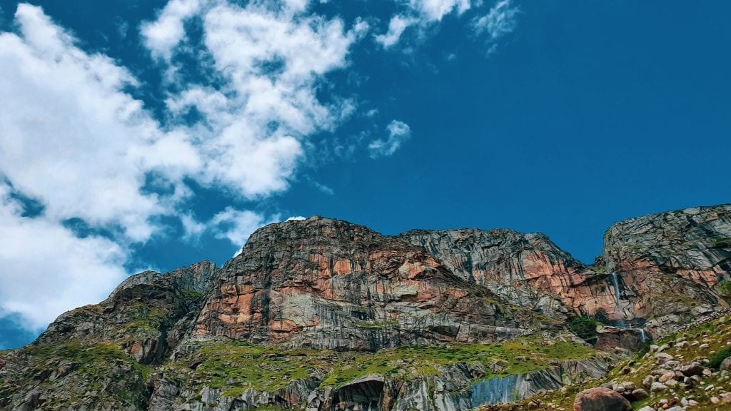
<path fill-rule="evenodd" d="M 625 312 L 637 317 L 724 304 L 714 286 L 731 272 L 731 205 L 687 208 L 618 222 L 602 260 L 621 274 Z"/>

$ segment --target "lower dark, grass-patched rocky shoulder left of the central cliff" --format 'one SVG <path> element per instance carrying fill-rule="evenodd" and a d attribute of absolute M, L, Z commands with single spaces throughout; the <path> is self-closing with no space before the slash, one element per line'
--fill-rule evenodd
<path fill-rule="evenodd" d="M 130 276 L 99 304 L 61 314 L 36 342 L 4 355 L 0 410 L 142 410 L 147 374 L 192 330 L 216 266 Z"/>

